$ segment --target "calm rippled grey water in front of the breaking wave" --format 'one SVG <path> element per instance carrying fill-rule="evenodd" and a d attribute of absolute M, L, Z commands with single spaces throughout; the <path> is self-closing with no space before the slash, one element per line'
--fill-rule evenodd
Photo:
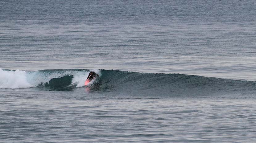
<path fill-rule="evenodd" d="M 3 142 L 255 141 L 255 100 L 20 92 L 2 96 Z"/>

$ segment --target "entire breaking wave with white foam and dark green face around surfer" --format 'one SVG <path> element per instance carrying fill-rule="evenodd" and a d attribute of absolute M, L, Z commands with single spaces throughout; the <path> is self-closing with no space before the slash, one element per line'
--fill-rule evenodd
<path fill-rule="evenodd" d="M 90 70 L 60 69 L 20 71 L 0 69 L 0 88 L 36 87 L 70 91 L 84 87 Z M 92 70 L 100 78 L 87 86 L 91 91 L 140 95 L 255 94 L 255 81 L 229 80 L 184 74 L 154 74 L 118 70 Z"/>

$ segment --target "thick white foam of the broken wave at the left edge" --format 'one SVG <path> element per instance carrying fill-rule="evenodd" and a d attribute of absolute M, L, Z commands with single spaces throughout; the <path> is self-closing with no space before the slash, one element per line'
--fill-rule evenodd
<path fill-rule="evenodd" d="M 30 88 L 26 71 L 4 71 L 0 69 L 0 88 Z"/>

